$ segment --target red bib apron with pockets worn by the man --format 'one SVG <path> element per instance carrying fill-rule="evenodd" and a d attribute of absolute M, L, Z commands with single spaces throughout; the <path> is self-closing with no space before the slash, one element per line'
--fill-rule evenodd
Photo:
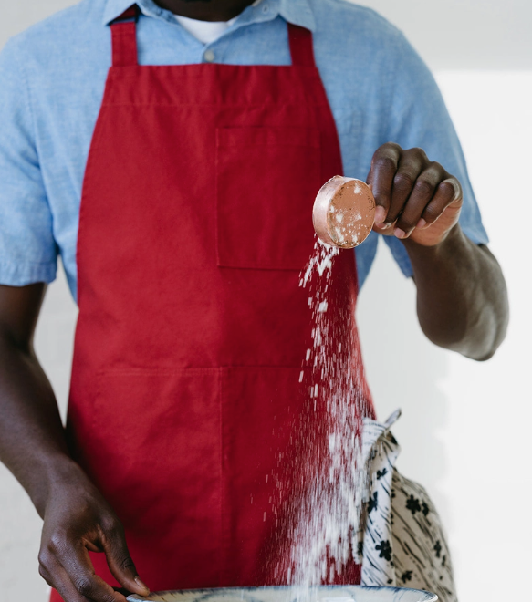
<path fill-rule="evenodd" d="M 299 272 L 314 197 L 342 172 L 312 36 L 288 26 L 287 67 L 141 67 L 134 20 L 111 31 L 79 216 L 71 450 L 153 590 L 286 583 L 313 403 Z M 354 254 L 337 259 L 353 311 Z"/>

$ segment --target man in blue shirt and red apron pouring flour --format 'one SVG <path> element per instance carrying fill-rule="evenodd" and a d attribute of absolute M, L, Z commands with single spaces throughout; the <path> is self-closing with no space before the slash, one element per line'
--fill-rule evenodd
<path fill-rule="evenodd" d="M 66 602 L 287 582 L 298 274 L 329 177 L 378 204 L 359 285 L 383 234 L 435 344 L 484 360 L 506 333 L 458 140 L 396 29 L 336 0 L 137 6 L 84 0 L 0 57 L 0 454 Z M 67 431 L 32 348 L 58 253 L 80 309 Z M 333 276 L 354 304 L 353 254 Z"/>

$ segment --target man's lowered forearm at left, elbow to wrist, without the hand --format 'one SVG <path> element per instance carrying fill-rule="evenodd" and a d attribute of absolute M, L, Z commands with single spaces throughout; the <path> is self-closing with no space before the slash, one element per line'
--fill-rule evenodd
<path fill-rule="evenodd" d="M 0 460 L 44 515 L 54 483 L 79 472 L 57 401 L 31 348 L 0 337 Z"/>

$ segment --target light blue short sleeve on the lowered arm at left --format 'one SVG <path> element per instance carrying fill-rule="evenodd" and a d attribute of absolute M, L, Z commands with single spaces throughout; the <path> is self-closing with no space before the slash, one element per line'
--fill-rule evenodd
<path fill-rule="evenodd" d="M 0 284 L 48 283 L 56 273 L 24 60 L 11 41 L 0 53 Z"/>

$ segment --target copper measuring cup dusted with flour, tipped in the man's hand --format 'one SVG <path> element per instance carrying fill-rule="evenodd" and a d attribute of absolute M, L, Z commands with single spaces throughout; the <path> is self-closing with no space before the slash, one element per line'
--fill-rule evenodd
<path fill-rule="evenodd" d="M 334 176 L 318 192 L 312 223 L 319 239 L 352 249 L 369 236 L 375 221 L 375 199 L 366 182 Z"/>

